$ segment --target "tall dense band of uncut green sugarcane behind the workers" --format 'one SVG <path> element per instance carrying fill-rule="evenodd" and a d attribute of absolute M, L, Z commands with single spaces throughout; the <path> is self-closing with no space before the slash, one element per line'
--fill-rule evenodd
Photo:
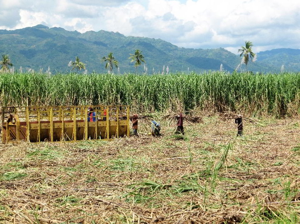
<path fill-rule="evenodd" d="M 213 110 L 253 115 L 300 114 L 300 75 L 0 74 L 0 103 L 23 105 L 131 105 L 133 111 Z"/>

